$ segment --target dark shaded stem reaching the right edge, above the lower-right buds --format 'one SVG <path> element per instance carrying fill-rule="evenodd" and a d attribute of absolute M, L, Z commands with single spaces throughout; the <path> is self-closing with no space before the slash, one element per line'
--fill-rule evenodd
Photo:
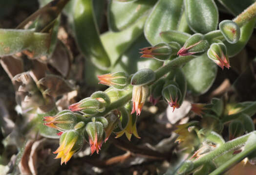
<path fill-rule="evenodd" d="M 256 102 L 254 102 L 251 105 L 247 106 L 246 108 L 244 108 L 243 110 L 241 110 L 238 113 L 224 116 L 223 119 L 221 120 L 221 122 L 222 123 L 227 123 L 227 122 L 230 122 L 232 120 L 235 120 L 235 119 L 239 118 L 242 113 L 247 114 L 250 117 L 252 117 L 256 113 Z"/>

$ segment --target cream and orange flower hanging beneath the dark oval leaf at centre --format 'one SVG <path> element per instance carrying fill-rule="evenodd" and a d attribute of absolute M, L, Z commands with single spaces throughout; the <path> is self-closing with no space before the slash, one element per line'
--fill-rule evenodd
<path fill-rule="evenodd" d="M 142 107 L 149 95 L 149 87 L 145 86 L 133 86 L 132 89 L 132 111 L 133 114 L 136 111 L 137 115 L 140 115 Z"/>

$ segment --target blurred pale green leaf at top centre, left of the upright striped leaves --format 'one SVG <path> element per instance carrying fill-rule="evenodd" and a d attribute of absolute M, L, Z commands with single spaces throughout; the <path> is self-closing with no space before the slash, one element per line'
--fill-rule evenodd
<path fill-rule="evenodd" d="M 107 17 L 110 30 L 117 32 L 128 28 L 139 18 L 147 15 L 156 0 L 137 0 L 123 3 L 110 0 Z"/>

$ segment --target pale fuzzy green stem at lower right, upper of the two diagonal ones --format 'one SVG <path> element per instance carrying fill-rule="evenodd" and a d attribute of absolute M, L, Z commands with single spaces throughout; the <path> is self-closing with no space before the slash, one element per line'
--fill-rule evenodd
<path fill-rule="evenodd" d="M 248 140 L 249 136 L 253 133 L 256 134 L 256 131 L 253 131 L 249 134 L 241 136 L 235 140 L 228 141 L 228 142 L 224 143 L 223 145 L 219 146 L 218 148 L 216 148 L 215 150 L 213 150 L 212 152 L 208 153 L 207 155 L 194 160 L 193 161 L 193 165 L 194 165 L 193 170 L 195 170 L 196 168 L 200 167 L 201 165 L 203 165 L 207 162 L 212 161 L 214 158 L 219 157 L 230 150 L 241 147 L 242 145 L 245 144 L 245 142 Z"/>

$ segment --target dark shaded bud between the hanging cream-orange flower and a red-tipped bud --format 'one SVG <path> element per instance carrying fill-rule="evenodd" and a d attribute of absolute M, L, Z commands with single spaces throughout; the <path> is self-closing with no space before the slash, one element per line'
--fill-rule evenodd
<path fill-rule="evenodd" d="M 150 87 L 150 103 L 156 105 L 162 97 L 162 90 L 165 84 L 164 79 L 160 79 Z"/>

